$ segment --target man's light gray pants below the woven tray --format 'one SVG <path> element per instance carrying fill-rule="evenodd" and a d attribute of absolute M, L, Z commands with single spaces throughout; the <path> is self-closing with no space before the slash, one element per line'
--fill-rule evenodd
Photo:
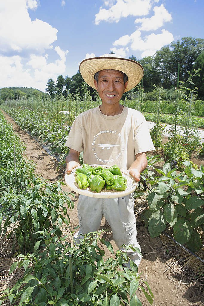
<path fill-rule="evenodd" d="M 138 266 L 141 255 L 131 249 L 125 251 L 121 247 L 122 244 L 132 244 L 140 249 L 137 242 L 133 207 L 134 198 L 132 195 L 115 199 L 99 199 L 80 195 L 77 205 L 80 230 L 74 235 L 74 240 L 79 243 L 78 239 L 83 239 L 81 235 L 98 231 L 104 215 L 113 231 L 113 239 L 117 247 L 127 252 L 128 257 Z M 127 263 L 126 266 L 130 267 L 130 263 Z"/>

